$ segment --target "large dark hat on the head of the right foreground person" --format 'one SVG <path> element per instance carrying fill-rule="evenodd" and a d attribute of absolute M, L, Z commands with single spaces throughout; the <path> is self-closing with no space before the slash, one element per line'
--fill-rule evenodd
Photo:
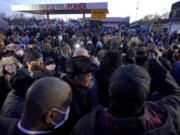
<path fill-rule="evenodd" d="M 123 111 L 137 114 L 149 95 L 150 76 L 136 64 L 121 66 L 112 76 L 109 90 L 112 101 Z"/>

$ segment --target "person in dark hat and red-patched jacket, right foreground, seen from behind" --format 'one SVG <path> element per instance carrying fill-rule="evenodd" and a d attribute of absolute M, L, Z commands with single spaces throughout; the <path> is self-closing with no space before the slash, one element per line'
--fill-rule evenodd
<path fill-rule="evenodd" d="M 108 108 L 94 108 L 72 135 L 179 135 L 180 88 L 158 60 L 149 62 L 150 74 L 136 64 L 118 68 L 110 79 Z M 160 95 L 156 101 L 147 101 L 151 84 Z"/>

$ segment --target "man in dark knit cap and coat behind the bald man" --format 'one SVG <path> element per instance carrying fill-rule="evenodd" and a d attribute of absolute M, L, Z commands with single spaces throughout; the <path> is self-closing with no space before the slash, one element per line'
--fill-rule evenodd
<path fill-rule="evenodd" d="M 37 79 L 53 74 L 44 68 L 43 57 L 37 50 L 29 48 L 25 51 L 23 67 L 10 78 L 11 91 L 7 95 L 0 112 L 1 117 L 20 118 L 23 111 L 25 95 L 29 86 Z"/>

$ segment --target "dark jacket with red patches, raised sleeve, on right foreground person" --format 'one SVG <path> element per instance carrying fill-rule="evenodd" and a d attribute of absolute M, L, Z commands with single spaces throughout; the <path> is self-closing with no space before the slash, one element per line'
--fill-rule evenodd
<path fill-rule="evenodd" d="M 137 116 L 129 117 L 114 116 L 113 112 L 97 107 L 77 123 L 72 135 L 180 134 L 179 86 L 158 61 L 150 62 L 150 75 L 154 78 L 153 83 L 158 84 L 156 88 L 160 93 L 160 100 L 145 101 L 143 111 Z"/>

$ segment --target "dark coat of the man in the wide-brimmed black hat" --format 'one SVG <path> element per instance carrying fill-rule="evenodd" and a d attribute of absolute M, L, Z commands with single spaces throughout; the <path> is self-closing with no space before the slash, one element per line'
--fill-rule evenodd
<path fill-rule="evenodd" d="M 92 104 L 88 96 L 88 87 L 79 86 L 68 77 L 64 77 L 63 80 L 72 88 L 70 114 L 63 127 L 63 132 L 67 131 L 67 134 L 69 134 L 78 120 L 91 111 Z"/>

